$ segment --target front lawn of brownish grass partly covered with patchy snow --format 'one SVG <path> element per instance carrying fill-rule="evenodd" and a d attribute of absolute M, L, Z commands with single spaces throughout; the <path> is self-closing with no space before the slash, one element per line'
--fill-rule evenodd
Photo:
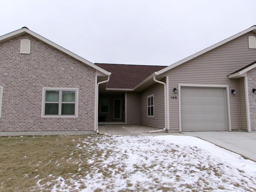
<path fill-rule="evenodd" d="M 256 192 L 256 162 L 190 136 L 0 137 L 4 192 Z"/>

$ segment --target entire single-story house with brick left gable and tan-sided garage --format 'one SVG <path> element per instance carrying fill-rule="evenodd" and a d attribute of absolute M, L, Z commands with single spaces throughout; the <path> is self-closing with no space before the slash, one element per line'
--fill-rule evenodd
<path fill-rule="evenodd" d="M 170 66 L 91 63 L 24 27 L 0 36 L 0 134 L 256 131 L 256 26 Z"/>

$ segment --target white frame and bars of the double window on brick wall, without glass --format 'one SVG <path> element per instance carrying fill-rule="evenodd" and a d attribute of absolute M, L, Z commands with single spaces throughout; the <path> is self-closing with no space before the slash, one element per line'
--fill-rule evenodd
<path fill-rule="evenodd" d="M 75 91 L 75 114 L 74 115 L 61 115 L 61 108 L 59 107 L 59 114 L 58 115 L 45 115 L 45 94 L 46 91 Z M 61 106 L 62 101 L 61 97 L 62 94 L 59 93 L 59 106 Z M 42 118 L 78 118 L 78 88 L 58 88 L 58 87 L 43 87 L 42 90 Z"/>

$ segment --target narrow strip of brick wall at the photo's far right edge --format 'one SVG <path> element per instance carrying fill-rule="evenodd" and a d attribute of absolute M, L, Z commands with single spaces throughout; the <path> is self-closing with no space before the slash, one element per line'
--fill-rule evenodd
<path fill-rule="evenodd" d="M 248 80 L 248 94 L 249 94 L 249 106 L 250 106 L 250 121 L 251 130 L 256 130 L 256 95 L 252 92 L 252 89 L 256 88 L 256 69 L 252 69 L 247 72 Z"/>

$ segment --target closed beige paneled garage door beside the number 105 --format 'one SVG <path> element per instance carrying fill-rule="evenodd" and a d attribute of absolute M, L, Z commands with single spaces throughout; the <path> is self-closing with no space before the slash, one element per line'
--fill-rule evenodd
<path fill-rule="evenodd" d="M 182 131 L 226 131 L 225 88 L 181 87 Z"/>

